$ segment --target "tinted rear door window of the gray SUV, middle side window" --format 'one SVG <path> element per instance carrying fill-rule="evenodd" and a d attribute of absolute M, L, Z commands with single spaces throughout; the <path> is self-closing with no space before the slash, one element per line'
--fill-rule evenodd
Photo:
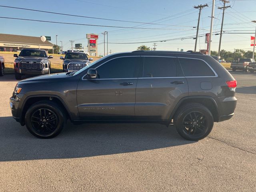
<path fill-rule="evenodd" d="M 183 76 L 176 60 L 170 57 L 144 57 L 143 77 Z"/>

